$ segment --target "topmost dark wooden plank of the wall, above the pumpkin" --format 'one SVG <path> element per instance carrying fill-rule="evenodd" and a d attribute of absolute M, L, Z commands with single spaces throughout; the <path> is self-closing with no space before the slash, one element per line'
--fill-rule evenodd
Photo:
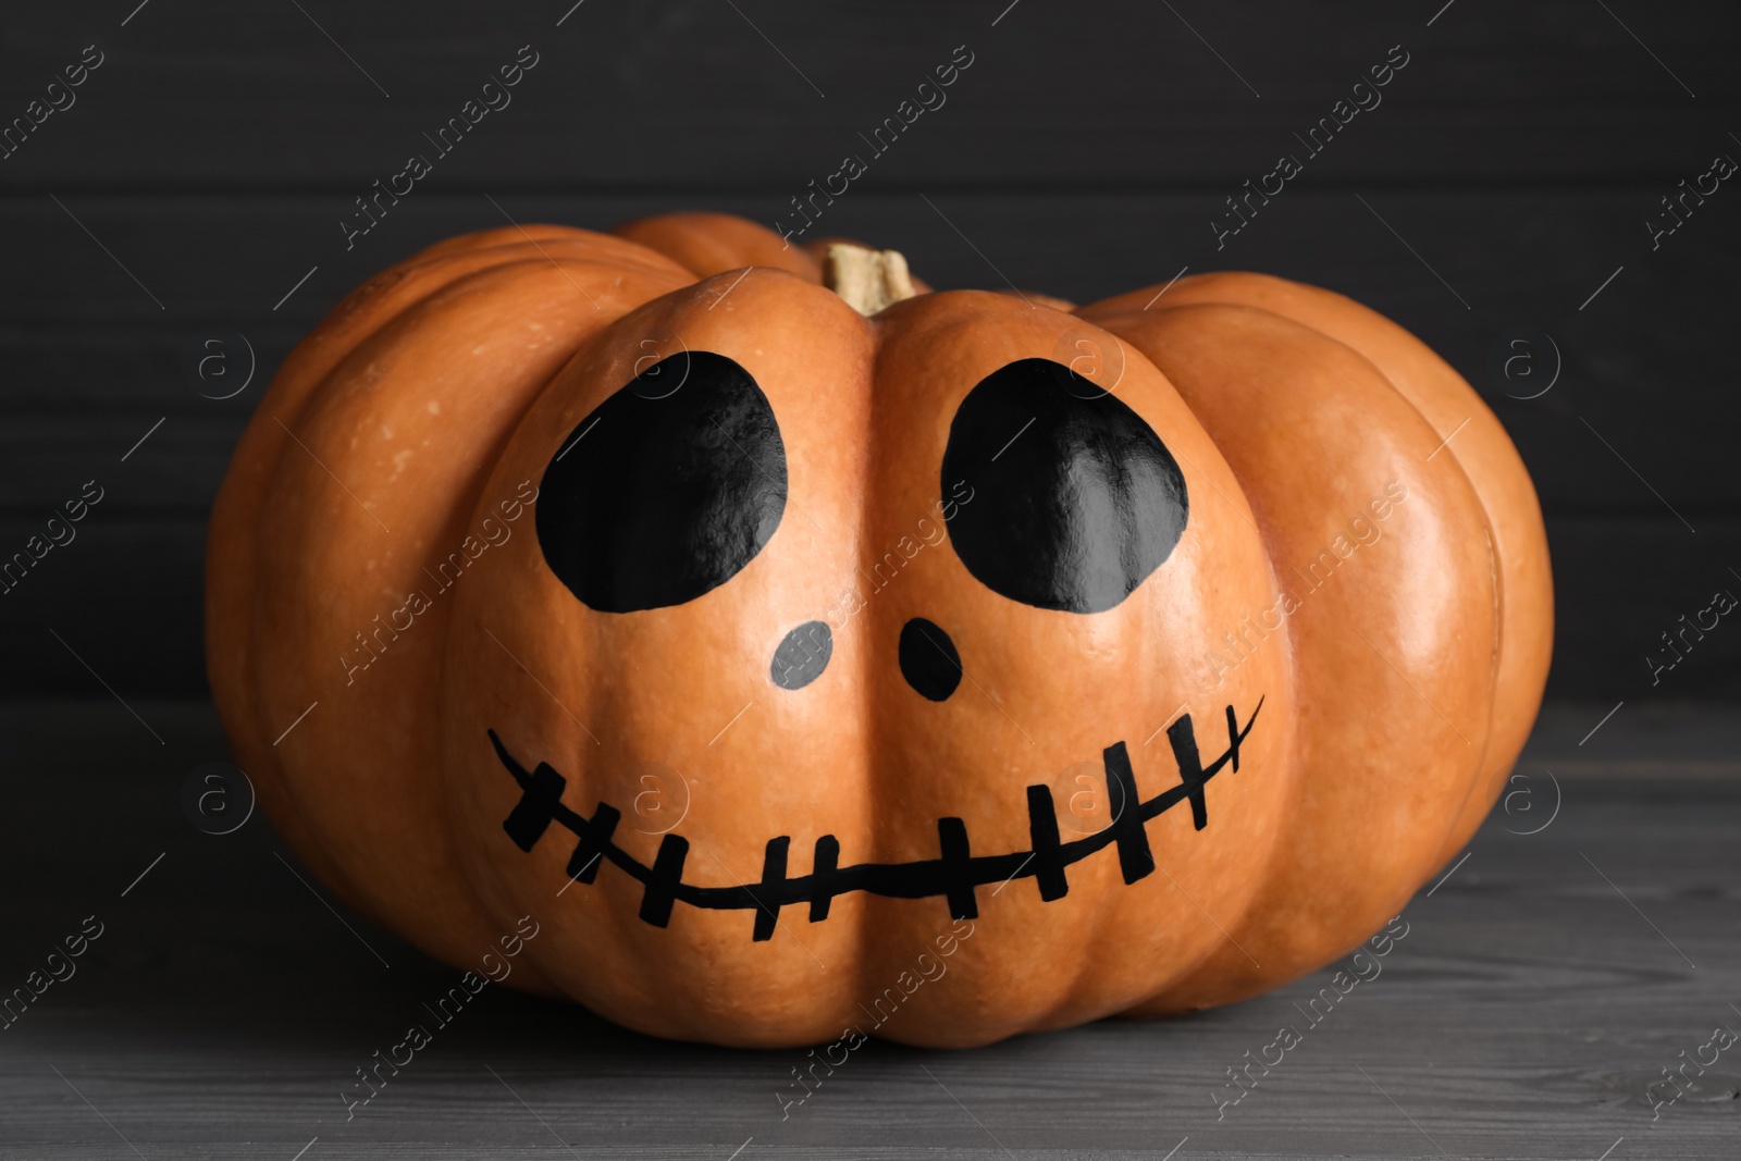
<path fill-rule="evenodd" d="M 1527 14 L 1461 3 L 1436 19 L 1440 3 L 1375 0 L 1266 0 L 1236 12 L 1125 2 L 1092 17 L 1036 3 L 1005 14 L 1006 0 L 947 14 L 738 7 L 588 5 L 561 26 L 568 3 L 524 0 L 489 12 L 446 0 L 414 14 L 279 5 L 245 23 L 202 0 L 157 5 L 125 28 L 78 9 L 38 10 L 12 35 L 16 59 L 0 82 L 9 117 L 82 45 L 99 42 L 108 56 L 78 104 L 52 115 L 0 176 L 38 190 L 113 188 L 117 178 L 324 185 L 348 202 L 352 186 L 425 150 L 423 134 L 524 44 L 540 54 L 536 70 L 454 158 L 474 188 L 776 179 L 796 191 L 864 150 L 858 134 L 961 44 L 971 68 L 876 162 L 877 183 L 1238 185 L 1294 150 L 1292 134 L 1398 44 L 1408 66 L 1354 120 L 1358 141 L 1339 146 L 1346 179 L 1673 185 L 1729 148 L 1722 110 L 1736 96 L 1736 16 L 1717 0 L 1612 14 L 1576 0 Z"/>

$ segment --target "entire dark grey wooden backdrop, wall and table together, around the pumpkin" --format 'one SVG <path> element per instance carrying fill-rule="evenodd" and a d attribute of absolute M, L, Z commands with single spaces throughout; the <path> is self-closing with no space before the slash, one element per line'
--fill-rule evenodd
<path fill-rule="evenodd" d="M 1732 5 L 571 3 L 115 0 L 0 23 L 0 125 L 85 45 L 106 56 L 0 160 L 0 560 L 104 489 L 0 595 L 0 996 L 84 916 L 106 926 L 0 1032 L 0 1156 L 1736 1156 L 1741 1050 L 1652 1105 L 1713 1023 L 1741 1027 L 1741 717 L 1711 705 L 1741 689 L 1741 630 L 1657 688 L 1644 663 L 1713 590 L 1741 594 L 1736 179 L 1661 249 L 1645 230 L 1741 158 Z M 514 103 L 346 252 L 352 200 L 528 44 Z M 346 1121 L 353 1069 L 456 971 L 334 907 L 265 818 L 214 836 L 183 809 L 225 754 L 205 519 L 270 374 L 352 285 L 505 214 L 773 221 L 961 44 L 949 103 L 822 230 L 944 287 L 1086 301 L 1245 266 L 1398 319 L 1536 475 L 1560 700 L 1384 976 L 1226 1117 L 1226 1069 L 1327 971 L 1161 1023 L 872 1043 L 790 1119 L 803 1051 L 653 1041 L 491 989 Z M 1382 104 L 1217 254 L 1224 198 L 1398 44 Z M 1520 325 L 1563 355 L 1534 400 L 1487 376 Z M 258 355 L 225 402 L 181 371 L 209 327 Z"/>

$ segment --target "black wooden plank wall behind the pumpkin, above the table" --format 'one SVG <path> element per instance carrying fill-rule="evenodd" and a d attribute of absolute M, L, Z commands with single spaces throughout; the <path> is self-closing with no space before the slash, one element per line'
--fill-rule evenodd
<path fill-rule="evenodd" d="M 1092 299 L 1241 266 L 1384 310 L 1475 383 L 1536 475 L 1551 689 L 1741 689 L 1741 628 L 1657 686 L 1644 660 L 1715 590 L 1741 595 L 1741 178 L 1706 176 L 1741 160 L 1732 5 L 571 3 L 9 5 L 0 124 L 63 108 L 0 160 L 0 559 L 89 480 L 103 498 L 0 595 L 0 691 L 204 689 L 202 543 L 230 449 L 284 353 L 371 272 L 507 216 L 773 223 L 846 153 L 869 172 L 818 230 L 898 247 L 942 287 Z M 947 103 L 872 157 L 860 134 L 958 45 L 971 64 Z M 529 54 L 512 103 L 437 158 L 423 134 Z M 1354 97 L 1379 104 L 1307 153 L 1295 134 Z M 346 249 L 353 198 L 411 153 L 434 172 Z M 1226 198 L 1283 153 L 1302 172 L 1217 251 Z M 1682 181 L 1706 193 L 1670 218 Z M 228 400 L 183 369 L 211 327 L 258 360 Z M 1549 378 L 1539 334 L 1515 348 L 1536 378 L 1489 369 L 1516 327 L 1558 352 L 1536 399 L 1511 395 Z"/>

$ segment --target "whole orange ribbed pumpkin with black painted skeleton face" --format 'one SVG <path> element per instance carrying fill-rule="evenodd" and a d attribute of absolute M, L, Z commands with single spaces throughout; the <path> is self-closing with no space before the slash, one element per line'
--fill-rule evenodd
<path fill-rule="evenodd" d="M 432 956 L 531 916 L 514 985 L 721 1044 L 1187 1011 L 1382 926 L 1546 675 L 1475 392 L 1264 275 L 1072 312 L 825 258 L 491 230 L 303 339 L 207 562 L 287 842 Z"/>

